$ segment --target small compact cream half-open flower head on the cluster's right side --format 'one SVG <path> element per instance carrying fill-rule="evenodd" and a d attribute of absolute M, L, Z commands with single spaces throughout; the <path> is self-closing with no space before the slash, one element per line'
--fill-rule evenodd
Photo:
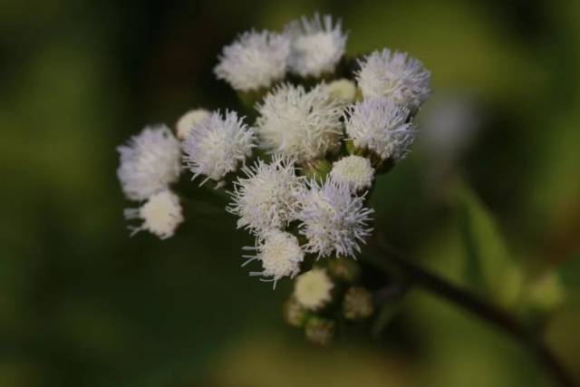
<path fill-rule="evenodd" d="M 339 184 L 346 184 L 353 192 L 369 189 L 374 179 L 371 160 L 362 156 L 347 156 L 333 163 L 330 177 Z"/>

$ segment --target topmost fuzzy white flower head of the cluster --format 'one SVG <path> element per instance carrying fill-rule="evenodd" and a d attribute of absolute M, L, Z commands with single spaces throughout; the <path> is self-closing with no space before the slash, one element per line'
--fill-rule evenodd
<path fill-rule="evenodd" d="M 290 70 L 303 77 L 333 73 L 346 50 L 347 34 L 340 20 L 333 25 L 331 15 L 321 18 L 315 14 L 312 19 L 303 16 L 288 24 L 285 33 L 292 38 Z"/>

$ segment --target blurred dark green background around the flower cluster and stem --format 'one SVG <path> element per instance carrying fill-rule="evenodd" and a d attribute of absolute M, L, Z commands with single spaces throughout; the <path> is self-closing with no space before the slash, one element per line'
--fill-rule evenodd
<path fill-rule="evenodd" d="M 176 237 L 129 237 L 115 147 L 237 107 L 211 73 L 221 47 L 314 11 L 343 18 L 349 53 L 389 46 L 432 71 L 376 227 L 535 326 L 580 378 L 580 2 L 2 0 L 1 386 L 550 385 L 420 290 L 378 339 L 304 343 L 280 315 L 289 285 L 239 267 L 251 241 L 208 189 Z"/>

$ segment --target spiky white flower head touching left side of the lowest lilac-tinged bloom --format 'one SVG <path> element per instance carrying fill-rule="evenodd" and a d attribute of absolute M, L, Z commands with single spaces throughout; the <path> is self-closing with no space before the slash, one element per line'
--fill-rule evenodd
<path fill-rule="evenodd" d="M 226 208 L 237 215 L 237 227 L 260 235 L 271 228 L 284 228 L 295 219 L 298 197 L 305 189 L 304 178 L 295 174 L 294 162 L 275 157 L 270 164 L 257 160 L 242 169 L 237 178 L 233 202 Z"/>

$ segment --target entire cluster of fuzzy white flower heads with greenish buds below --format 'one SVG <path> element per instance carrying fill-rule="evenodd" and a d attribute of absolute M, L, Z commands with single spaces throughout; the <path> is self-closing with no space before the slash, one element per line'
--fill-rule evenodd
<path fill-rule="evenodd" d="M 184 220 L 172 190 L 183 170 L 224 189 L 227 212 L 256 239 L 242 266 L 274 287 L 294 280 L 285 318 L 315 343 L 333 336 L 330 309 L 345 320 L 372 315 L 353 261 L 372 235 L 369 192 L 409 153 L 413 118 L 430 95 L 419 60 L 386 48 L 348 58 L 346 42 L 330 15 L 240 34 L 215 74 L 251 102 L 256 120 L 197 109 L 175 134 L 148 127 L 119 148 L 122 189 L 143 202 L 126 210 L 141 221 L 135 231 L 173 236 Z"/>

